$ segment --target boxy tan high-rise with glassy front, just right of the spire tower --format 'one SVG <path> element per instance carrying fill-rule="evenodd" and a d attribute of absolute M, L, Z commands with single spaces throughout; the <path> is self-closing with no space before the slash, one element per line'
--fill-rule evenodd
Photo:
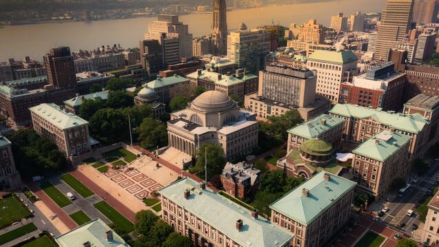
<path fill-rule="evenodd" d="M 267 30 L 247 30 L 247 26 L 241 23 L 238 32 L 231 32 L 227 36 L 227 57 L 236 63 L 238 68 L 258 72 L 264 67 L 265 56 L 269 54 L 269 45 Z"/>

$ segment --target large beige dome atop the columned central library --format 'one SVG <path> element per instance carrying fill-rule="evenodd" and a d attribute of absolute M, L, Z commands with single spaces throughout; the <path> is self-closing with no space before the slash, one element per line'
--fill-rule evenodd
<path fill-rule="evenodd" d="M 205 112 L 221 112 L 236 107 L 234 101 L 226 94 L 218 91 L 207 91 L 196 97 L 192 108 Z"/>

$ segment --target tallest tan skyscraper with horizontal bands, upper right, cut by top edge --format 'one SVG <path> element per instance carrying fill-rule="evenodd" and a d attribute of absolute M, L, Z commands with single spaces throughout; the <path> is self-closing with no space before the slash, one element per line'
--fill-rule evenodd
<path fill-rule="evenodd" d="M 376 60 L 387 61 L 390 48 L 396 47 L 411 29 L 413 4 L 414 0 L 387 0 L 378 26 Z"/>

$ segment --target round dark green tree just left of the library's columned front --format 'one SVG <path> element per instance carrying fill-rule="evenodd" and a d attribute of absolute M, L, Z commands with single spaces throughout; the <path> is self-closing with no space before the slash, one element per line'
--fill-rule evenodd
<path fill-rule="evenodd" d="M 135 129 L 139 135 L 141 146 L 145 149 L 152 147 L 165 147 L 167 145 L 166 126 L 154 118 L 145 118 L 139 127 Z"/>

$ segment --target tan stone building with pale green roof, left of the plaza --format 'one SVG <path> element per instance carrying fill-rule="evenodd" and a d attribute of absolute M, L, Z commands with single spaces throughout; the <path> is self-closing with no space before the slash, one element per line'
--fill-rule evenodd
<path fill-rule="evenodd" d="M 76 156 L 90 151 L 88 122 L 59 106 L 41 104 L 30 108 L 34 130 L 48 138 L 65 156 Z"/>

